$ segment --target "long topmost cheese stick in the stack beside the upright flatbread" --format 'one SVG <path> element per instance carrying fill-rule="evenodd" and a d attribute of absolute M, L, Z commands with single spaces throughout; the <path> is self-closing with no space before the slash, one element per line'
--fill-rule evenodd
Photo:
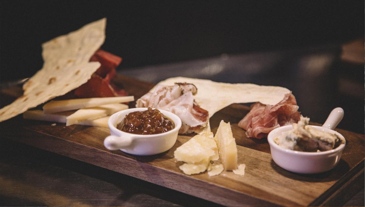
<path fill-rule="evenodd" d="M 134 101 L 134 96 L 118 96 L 118 97 L 104 97 L 104 98 L 87 98 L 87 99 L 68 99 L 59 101 L 50 101 L 43 106 L 45 114 L 70 111 L 80 108 L 90 108 L 102 106 L 112 103 L 124 103 Z"/>

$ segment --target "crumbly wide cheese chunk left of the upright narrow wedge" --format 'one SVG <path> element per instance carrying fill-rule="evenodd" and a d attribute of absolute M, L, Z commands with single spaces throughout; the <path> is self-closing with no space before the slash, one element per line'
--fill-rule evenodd
<path fill-rule="evenodd" d="M 217 145 L 214 139 L 210 138 L 209 133 L 195 135 L 189 141 L 185 142 L 174 152 L 174 157 L 178 161 L 196 163 L 202 160 L 210 161 L 216 157 Z"/>

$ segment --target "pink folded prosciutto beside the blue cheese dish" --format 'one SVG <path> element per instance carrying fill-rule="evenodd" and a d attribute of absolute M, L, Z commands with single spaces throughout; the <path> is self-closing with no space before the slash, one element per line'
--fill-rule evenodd
<path fill-rule="evenodd" d="M 253 104 L 251 111 L 243 117 L 238 126 L 246 130 L 247 137 L 261 139 L 277 127 L 297 123 L 300 120 L 298 108 L 296 99 L 290 92 L 276 105 L 260 102 Z"/>

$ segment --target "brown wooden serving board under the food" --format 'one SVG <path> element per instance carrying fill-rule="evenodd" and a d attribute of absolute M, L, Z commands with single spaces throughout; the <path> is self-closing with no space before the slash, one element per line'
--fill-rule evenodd
<path fill-rule="evenodd" d="M 153 84 L 118 76 L 116 83 L 137 99 Z M 131 106 L 134 103 L 131 103 Z M 332 170 L 315 175 L 300 175 L 277 166 L 270 155 L 266 139 L 246 138 L 237 126 L 249 107 L 232 104 L 210 119 L 215 134 L 220 120 L 232 124 L 238 149 L 238 164 L 246 164 L 244 176 L 222 172 L 209 177 L 206 172 L 185 175 L 178 168 L 174 151 L 195 134 L 179 135 L 176 144 L 155 156 L 132 156 L 122 151 L 109 151 L 103 146 L 109 129 L 50 122 L 24 120 L 21 116 L 0 123 L 2 138 L 71 157 L 116 172 L 137 177 L 226 206 L 319 206 L 339 205 L 347 189 L 364 183 L 364 135 L 336 129 L 346 138 L 339 164 Z M 343 202 L 345 202 L 344 200 Z M 341 204 L 340 204 L 341 205 Z"/>

